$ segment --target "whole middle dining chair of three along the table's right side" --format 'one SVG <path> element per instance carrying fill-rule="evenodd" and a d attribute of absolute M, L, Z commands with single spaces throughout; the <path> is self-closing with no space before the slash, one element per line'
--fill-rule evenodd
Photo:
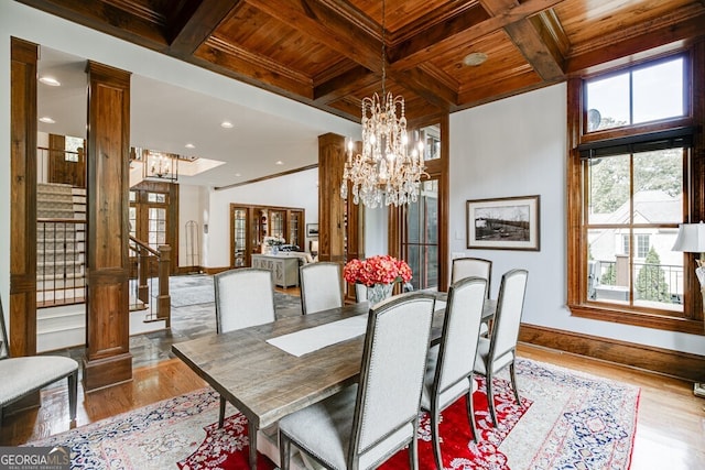
<path fill-rule="evenodd" d="M 431 348 L 426 359 L 421 408 L 431 415 L 433 456 L 438 469 L 443 468 L 438 436 L 441 412 L 463 395 L 473 439 L 478 438 L 473 407 L 473 358 L 477 353 L 486 288 L 487 280 L 481 277 L 464 277 L 451 285 L 441 343 Z"/>

